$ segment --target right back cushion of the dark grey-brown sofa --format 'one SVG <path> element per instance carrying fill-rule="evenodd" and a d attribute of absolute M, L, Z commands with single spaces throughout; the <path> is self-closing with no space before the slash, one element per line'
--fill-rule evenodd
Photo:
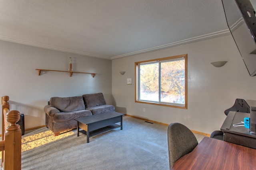
<path fill-rule="evenodd" d="M 102 93 L 84 94 L 82 97 L 86 109 L 106 104 Z"/>

